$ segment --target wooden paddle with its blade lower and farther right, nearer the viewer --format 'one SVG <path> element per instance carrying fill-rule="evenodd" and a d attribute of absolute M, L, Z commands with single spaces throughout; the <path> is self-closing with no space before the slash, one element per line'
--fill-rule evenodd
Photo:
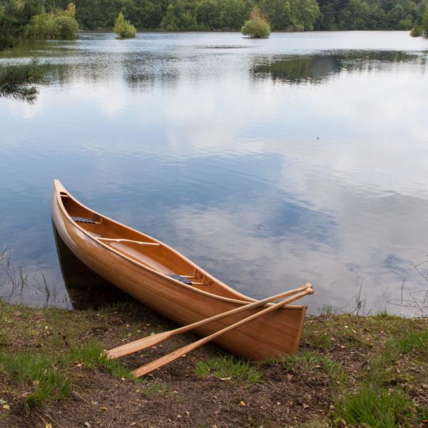
<path fill-rule="evenodd" d="M 190 345 L 186 345 L 181 347 L 178 350 L 175 350 L 173 352 L 170 352 L 168 355 L 164 355 L 161 358 L 158 358 L 158 360 L 154 360 L 152 362 L 149 362 L 146 365 L 143 365 L 139 367 L 138 369 L 133 371 L 133 375 L 135 377 L 141 377 L 144 376 L 144 374 L 148 374 L 150 372 L 153 372 L 153 370 L 157 370 L 159 367 L 162 367 L 163 365 L 168 364 L 169 362 L 173 362 L 174 360 L 177 360 L 179 357 L 188 354 L 188 352 L 191 352 L 198 347 L 205 345 L 205 343 L 210 342 L 210 340 L 215 339 L 215 337 L 224 335 L 227 332 L 230 332 L 230 330 L 233 330 L 237 327 L 240 327 L 241 325 L 244 325 L 247 322 L 250 322 L 252 320 L 255 320 L 255 318 L 262 317 L 263 315 L 266 315 L 268 312 L 272 312 L 274 310 L 277 310 L 278 308 L 288 305 L 291 302 L 294 302 L 297 299 L 300 299 L 300 297 L 303 297 L 308 294 L 313 294 L 314 290 L 312 290 L 312 287 L 307 287 L 306 290 L 302 291 L 300 294 L 290 297 L 289 299 L 282 300 L 282 302 L 275 303 L 275 305 L 272 305 L 270 307 L 267 307 L 264 310 L 261 310 L 260 312 L 251 315 L 250 317 L 244 318 L 243 320 L 240 320 L 239 322 L 235 322 L 235 324 L 230 325 L 229 327 L 223 328 L 223 330 L 219 330 L 218 332 L 213 333 L 212 335 L 209 335 L 207 337 L 203 337 L 200 340 L 197 340 L 196 342 L 190 343 Z M 248 308 L 248 306 L 247 306 Z"/>

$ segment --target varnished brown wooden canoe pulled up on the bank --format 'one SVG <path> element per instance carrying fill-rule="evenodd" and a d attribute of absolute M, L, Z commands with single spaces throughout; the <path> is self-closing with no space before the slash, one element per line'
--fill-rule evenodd
<path fill-rule="evenodd" d="M 151 236 L 81 204 L 54 180 L 52 218 L 68 248 L 91 270 L 180 325 L 188 325 L 255 300 L 228 287 Z M 258 307 L 198 328 L 211 335 L 265 309 Z M 293 355 L 302 335 L 305 306 L 286 305 L 214 342 L 248 360 Z"/>

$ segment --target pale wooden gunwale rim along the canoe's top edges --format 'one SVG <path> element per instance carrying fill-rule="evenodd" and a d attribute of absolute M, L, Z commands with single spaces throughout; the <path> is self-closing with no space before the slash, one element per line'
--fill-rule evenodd
<path fill-rule="evenodd" d="M 81 231 L 81 233 L 83 233 L 83 235 L 86 236 L 86 238 L 90 238 L 91 241 L 93 241 L 93 243 L 96 243 L 96 245 L 99 245 L 101 248 L 103 248 L 103 250 L 108 250 L 108 252 L 113 253 L 114 255 L 123 258 L 124 260 L 126 260 L 128 263 L 131 263 L 132 265 L 136 265 L 138 266 L 138 268 L 146 270 L 147 272 L 151 272 L 154 273 L 160 277 L 163 277 L 163 279 L 168 280 L 169 282 L 173 282 L 175 283 L 175 285 L 179 285 L 180 287 L 183 287 L 185 289 L 191 290 L 192 292 L 197 292 L 200 295 L 205 295 L 211 298 L 215 298 L 218 300 L 223 300 L 224 302 L 231 302 L 231 303 L 235 303 L 238 305 L 245 305 L 251 302 L 255 302 L 255 299 L 253 299 L 252 297 L 248 297 L 243 295 L 242 293 L 234 290 L 233 288 L 229 287 L 228 285 L 224 284 L 222 281 L 218 280 L 217 278 L 213 277 L 213 275 L 210 275 L 208 272 L 206 272 L 205 270 L 203 270 L 203 268 L 199 267 L 198 265 L 195 265 L 195 263 L 193 263 L 191 260 L 189 260 L 188 258 L 186 258 L 184 255 L 182 255 L 181 253 L 178 253 L 177 250 L 174 250 L 173 248 L 171 248 L 169 245 L 162 243 L 161 241 L 157 240 L 156 238 L 151 237 L 150 235 L 146 235 L 145 233 L 141 233 L 138 230 L 135 230 L 133 228 L 130 228 L 127 225 L 124 225 L 123 223 L 119 223 L 116 220 L 113 220 L 112 218 L 108 218 L 106 215 L 101 215 L 100 213 L 97 213 L 95 210 L 88 208 L 86 205 L 83 205 L 83 203 L 81 203 L 79 200 L 77 200 L 76 198 L 73 197 L 73 195 L 71 195 L 68 190 L 66 190 L 66 188 L 63 187 L 63 185 L 59 182 L 59 180 L 54 180 L 54 189 L 55 189 L 55 193 L 56 193 L 56 202 L 57 202 L 57 206 L 58 208 L 60 208 L 61 210 L 61 218 L 63 218 L 63 220 L 67 220 L 68 223 L 73 227 L 76 228 L 77 230 Z M 138 233 L 138 235 L 143 235 L 153 241 L 155 241 L 156 243 L 159 243 L 160 245 L 163 245 L 165 248 L 167 248 L 168 250 L 172 251 L 175 255 L 177 255 L 179 258 L 182 258 L 183 260 L 185 260 L 187 263 L 190 263 L 190 265 L 192 265 L 193 267 L 195 267 L 196 270 L 199 270 L 199 272 L 201 272 L 203 275 L 205 275 L 206 277 L 210 278 L 210 280 L 213 280 L 215 282 L 218 283 L 218 285 L 225 287 L 225 289 L 227 290 L 231 290 L 235 293 L 237 293 L 238 295 L 242 295 L 243 296 L 243 300 L 238 300 L 238 299 L 233 299 L 230 297 L 223 297 L 220 295 L 216 295 L 213 294 L 212 292 L 207 292 L 204 290 L 200 290 L 196 287 L 193 287 L 193 285 L 187 285 L 179 280 L 175 280 L 173 277 L 169 277 L 168 275 L 163 274 L 162 272 L 159 272 L 156 269 L 153 269 L 149 266 L 145 266 L 142 263 L 138 263 L 137 260 L 133 260 L 132 258 L 129 258 L 126 254 L 121 253 L 121 251 L 116 250 L 116 248 L 111 247 L 110 245 L 107 245 L 106 243 L 103 243 L 102 240 L 98 239 L 97 237 L 94 237 L 93 235 L 91 235 L 91 233 L 88 233 L 87 230 L 85 230 L 84 228 L 81 227 L 81 225 L 78 225 L 78 223 L 76 223 L 76 221 L 73 220 L 73 218 L 71 218 L 71 215 L 68 214 L 63 201 L 62 201 L 62 196 L 61 193 L 65 193 L 67 198 L 70 198 L 71 200 L 73 200 L 75 203 L 77 203 L 78 205 L 81 205 L 83 208 L 85 208 L 86 210 L 90 211 L 91 213 L 98 215 L 101 219 L 106 219 L 109 222 L 118 225 L 121 228 L 126 228 L 127 230 L 130 230 L 133 233 Z M 267 304 L 266 306 L 272 305 L 272 303 Z M 284 305 L 283 309 L 287 309 L 287 310 L 302 310 L 303 308 L 306 308 L 303 305 Z"/>

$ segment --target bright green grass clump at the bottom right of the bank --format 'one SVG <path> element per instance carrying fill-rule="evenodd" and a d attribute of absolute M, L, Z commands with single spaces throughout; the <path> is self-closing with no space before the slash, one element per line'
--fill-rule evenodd
<path fill-rule="evenodd" d="M 399 390 L 362 387 L 355 393 L 347 394 L 337 403 L 335 416 L 347 424 L 372 428 L 399 428 L 408 419 L 414 402 Z"/>

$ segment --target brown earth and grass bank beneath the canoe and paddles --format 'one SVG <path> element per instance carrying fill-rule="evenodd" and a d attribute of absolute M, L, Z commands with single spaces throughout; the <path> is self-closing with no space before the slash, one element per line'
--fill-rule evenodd
<path fill-rule="evenodd" d="M 195 336 L 112 362 L 103 349 L 174 325 L 134 302 L 0 302 L 0 322 L 1 427 L 428 427 L 427 318 L 310 317 L 296 356 L 248 363 L 208 345 L 138 380 Z"/>

